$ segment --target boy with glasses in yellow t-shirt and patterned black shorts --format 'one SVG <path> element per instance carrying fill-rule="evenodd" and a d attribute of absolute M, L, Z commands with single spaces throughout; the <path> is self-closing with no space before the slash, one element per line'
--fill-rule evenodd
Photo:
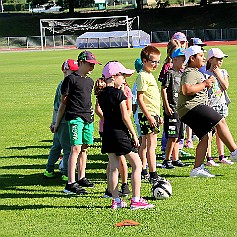
<path fill-rule="evenodd" d="M 160 63 L 160 57 L 161 53 L 156 47 L 149 45 L 143 48 L 141 51 L 143 68 L 136 80 L 138 118 L 142 136 L 146 137 L 144 141 L 147 142 L 149 181 L 152 184 L 159 179 L 156 172 L 156 146 L 159 125 L 163 123 L 160 117 L 160 92 L 156 79 L 152 75 Z"/>

